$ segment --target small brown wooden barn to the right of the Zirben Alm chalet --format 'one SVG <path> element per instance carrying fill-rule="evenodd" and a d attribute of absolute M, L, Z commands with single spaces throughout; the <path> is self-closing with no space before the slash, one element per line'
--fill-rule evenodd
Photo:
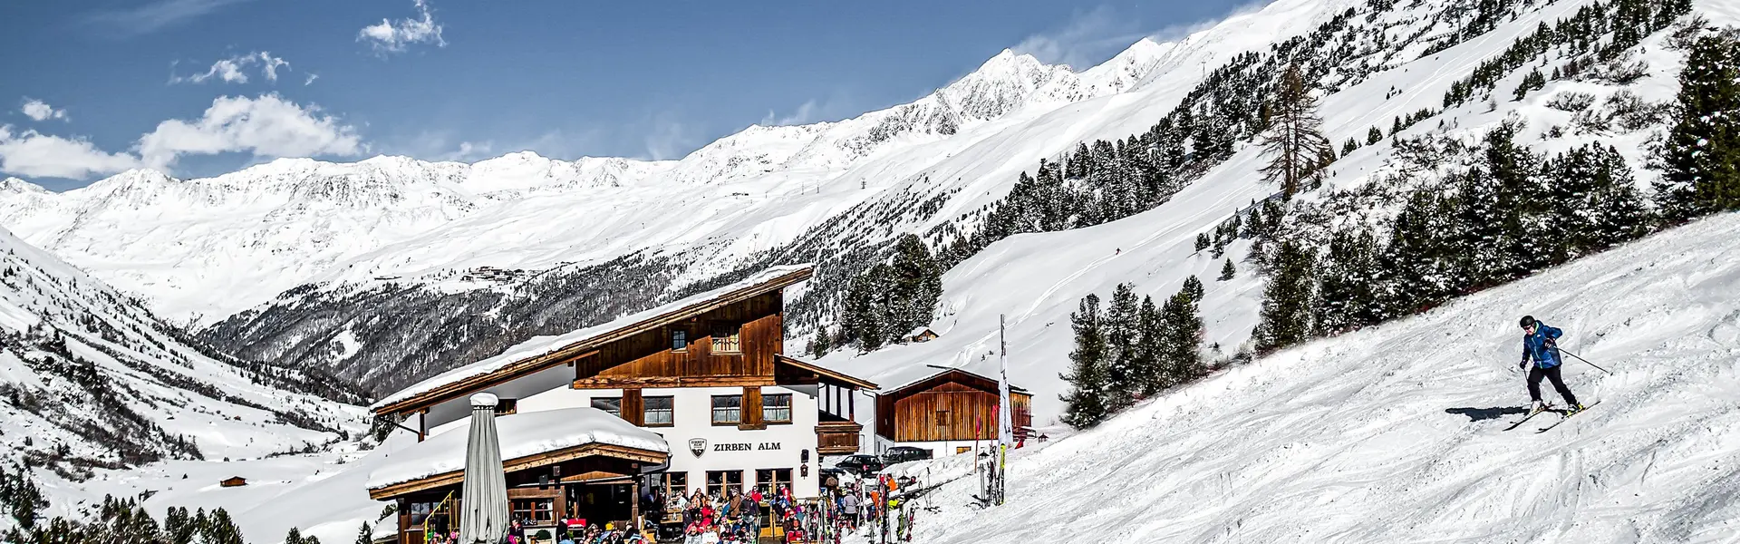
<path fill-rule="evenodd" d="M 1009 387 L 1016 439 L 1034 425 L 1034 396 Z M 875 432 L 884 446 L 919 446 L 934 455 L 966 452 L 974 441 L 997 439 L 997 380 L 959 368 L 894 387 L 877 396 Z"/>

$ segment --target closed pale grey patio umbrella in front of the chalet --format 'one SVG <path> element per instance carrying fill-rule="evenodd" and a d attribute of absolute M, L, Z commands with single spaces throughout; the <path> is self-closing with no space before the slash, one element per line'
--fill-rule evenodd
<path fill-rule="evenodd" d="M 508 481 L 501 474 L 496 436 L 496 396 L 472 396 L 472 429 L 465 441 L 465 485 L 459 493 L 459 542 L 499 544 L 508 535 Z"/>

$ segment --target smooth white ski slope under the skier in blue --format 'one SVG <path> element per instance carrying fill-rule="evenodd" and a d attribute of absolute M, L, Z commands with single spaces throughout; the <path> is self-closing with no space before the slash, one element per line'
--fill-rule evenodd
<path fill-rule="evenodd" d="M 1740 214 L 1275 352 L 917 504 L 912 542 L 1740 542 Z M 1536 434 L 1517 317 L 1601 406 Z M 1559 401 L 1550 385 L 1545 396 Z M 950 457 L 929 481 L 959 476 Z"/>

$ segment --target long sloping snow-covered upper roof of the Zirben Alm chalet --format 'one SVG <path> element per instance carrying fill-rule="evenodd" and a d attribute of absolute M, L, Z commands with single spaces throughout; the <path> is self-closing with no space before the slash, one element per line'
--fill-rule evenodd
<path fill-rule="evenodd" d="M 612 337 L 616 335 L 612 333 L 618 331 L 639 330 L 646 326 L 658 326 L 663 323 L 679 321 L 687 317 L 686 314 L 696 312 L 699 309 L 755 296 L 771 289 L 780 289 L 797 281 L 809 279 L 811 270 L 813 270 L 811 265 L 771 267 L 767 270 L 757 272 L 755 275 L 745 277 L 743 281 L 727 284 L 724 288 L 686 296 L 649 310 L 616 317 L 604 324 L 588 326 L 566 335 L 534 337 L 531 340 L 520 342 L 519 345 L 503 350 L 494 357 L 438 373 L 428 380 L 418 382 L 411 387 L 405 387 L 398 392 L 381 398 L 372 406 L 369 406 L 369 410 L 379 411 L 385 406 L 402 403 L 433 392 L 435 389 L 459 384 L 463 380 L 487 378 L 492 373 L 510 370 L 512 366 L 515 366 L 515 363 L 522 363 L 527 359 L 578 349 L 588 343 L 602 343 L 599 340 L 614 340 Z M 559 361 L 539 361 L 539 363 L 559 363 Z"/>

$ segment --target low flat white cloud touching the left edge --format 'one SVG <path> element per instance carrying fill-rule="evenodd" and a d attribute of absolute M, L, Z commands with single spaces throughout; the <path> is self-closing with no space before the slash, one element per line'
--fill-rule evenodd
<path fill-rule="evenodd" d="M 0 171 L 30 178 L 84 180 L 137 167 L 127 153 L 104 153 L 85 139 L 66 139 L 37 131 L 12 133 L 0 126 Z"/>

